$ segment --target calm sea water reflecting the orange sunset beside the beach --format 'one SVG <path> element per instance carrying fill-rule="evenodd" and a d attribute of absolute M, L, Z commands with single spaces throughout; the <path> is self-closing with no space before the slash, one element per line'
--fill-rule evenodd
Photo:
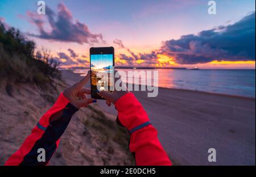
<path fill-rule="evenodd" d="M 120 70 L 126 73 L 128 71 L 127 69 Z M 255 70 L 156 70 L 159 75 L 159 87 L 255 98 Z M 75 70 L 76 73 L 87 73 L 87 71 L 87 69 Z"/>

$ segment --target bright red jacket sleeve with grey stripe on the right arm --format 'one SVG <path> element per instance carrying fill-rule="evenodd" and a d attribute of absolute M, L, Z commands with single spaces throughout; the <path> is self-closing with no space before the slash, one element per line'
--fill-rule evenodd
<path fill-rule="evenodd" d="M 137 165 L 171 165 L 168 155 L 158 140 L 158 133 L 151 125 L 146 111 L 129 92 L 115 103 L 118 121 L 130 133 L 130 151 L 135 154 Z"/>

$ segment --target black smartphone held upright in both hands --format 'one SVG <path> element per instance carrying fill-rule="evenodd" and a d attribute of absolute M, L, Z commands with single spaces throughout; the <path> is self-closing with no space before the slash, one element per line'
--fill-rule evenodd
<path fill-rule="evenodd" d="M 97 94 L 98 88 L 108 91 L 113 90 L 114 74 L 114 48 L 92 47 L 90 48 L 90 92 L 94 99 L 104 99 Z M 108 79 L 104 79 L 108 75 Z M 98 86 L 98 88 L 97 88 Z"/>

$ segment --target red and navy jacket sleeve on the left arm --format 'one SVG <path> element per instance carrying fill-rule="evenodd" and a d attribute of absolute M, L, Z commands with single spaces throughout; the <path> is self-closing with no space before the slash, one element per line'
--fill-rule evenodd
<path fill-rule="evenodd" d="M 63 93 L 55 104 L 39 120 L 20 148 L 6 161 L 5 165 L 47 165 L 59 145 L 59 139 L 67 128 L 73 113 L 78 109 L 69 103 Z M 60 119 L 49 123 L 49 119 L 57 112 L 61 112 Z M 45 158 L 39 158 L 45 151 Z"/>

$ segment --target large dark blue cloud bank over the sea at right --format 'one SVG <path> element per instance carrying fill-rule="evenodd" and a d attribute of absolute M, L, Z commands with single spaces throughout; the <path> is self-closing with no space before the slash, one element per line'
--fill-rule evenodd
<path fill-rule="evenodd" d="M 255 12 L 229 26 L 165 41 L 161 51 L 179 64 L 255 60 Z"/>

